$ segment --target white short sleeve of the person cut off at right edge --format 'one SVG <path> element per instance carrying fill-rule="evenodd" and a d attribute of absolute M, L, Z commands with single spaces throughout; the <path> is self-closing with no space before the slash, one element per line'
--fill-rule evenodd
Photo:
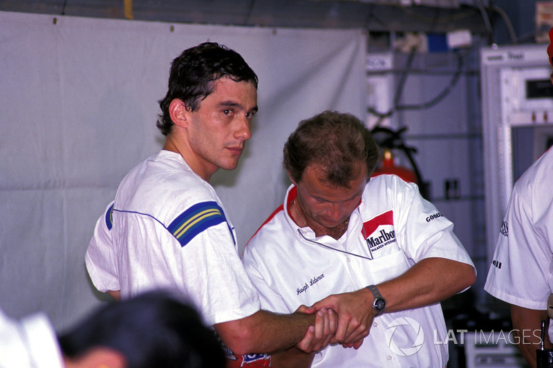
<path fill-rule="evenodd" d="M 531 210 L 515 186 L 484 289 L 509 304 L 544 310 L 552 290 L 551 251 L 534 227 Z"/>

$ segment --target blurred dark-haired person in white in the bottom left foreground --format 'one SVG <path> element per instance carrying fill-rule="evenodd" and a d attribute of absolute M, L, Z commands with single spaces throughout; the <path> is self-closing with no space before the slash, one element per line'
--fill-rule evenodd
<path fill-rule="evenodd" d="M 102 306 L 59 336 L 44 313 L 0 310 L 0 342 L 2 368 L 225 368 L 213 331 L 165 291 Z"/>

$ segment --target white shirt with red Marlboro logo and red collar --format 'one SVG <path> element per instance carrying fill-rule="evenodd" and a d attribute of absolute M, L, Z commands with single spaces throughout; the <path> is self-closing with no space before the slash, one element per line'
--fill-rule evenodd
<path fill-rule="evenodd" d="M 316 238 L 310 228 L 299 228 L 288 213 L 295 197 L 296 188 L 290 186 L 284 205 L 245 247 L 243 262 L 263 309 L 289 313 L 330 294 L 395 278 L 424 258 L 474 267 L 452 232 L 453 224 L 415 185 L 395 175 L 371 178 L 339 240 Z M 384 313 L 374 319 L 358 350 L 326 347 L 315 355 L 312 367 L 445 367 L 446 336 L 439 303 Z"/>

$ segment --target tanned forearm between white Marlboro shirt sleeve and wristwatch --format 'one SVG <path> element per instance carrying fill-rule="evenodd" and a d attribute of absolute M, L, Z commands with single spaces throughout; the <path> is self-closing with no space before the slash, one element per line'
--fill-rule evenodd
<path fill-rule="evenodd" d="M 386 312 L 424 307 L 471 286 L 476 273 L 470 264 L 426 258 L 393 280 L 377 285 L 386 299 Z"/>

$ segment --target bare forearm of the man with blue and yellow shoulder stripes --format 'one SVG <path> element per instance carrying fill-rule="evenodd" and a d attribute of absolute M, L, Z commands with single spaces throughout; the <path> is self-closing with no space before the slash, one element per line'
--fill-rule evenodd
<path fill-rule="evenodd" d="M 315 325 L 315 314 L 276 314 L 258 311 L 252 316 L 214 325 L 221 340 L 235 354 L 270 353 L 288 349 Z"/>

